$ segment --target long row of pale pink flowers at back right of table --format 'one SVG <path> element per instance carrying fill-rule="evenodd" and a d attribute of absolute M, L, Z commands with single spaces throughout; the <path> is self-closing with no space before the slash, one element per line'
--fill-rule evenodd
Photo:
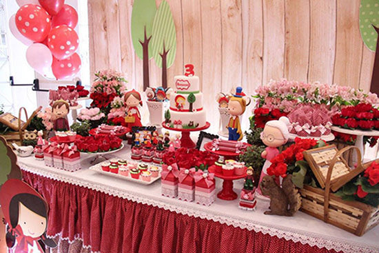
<path fill-rule="evenodd" d="M 379 103 L 378 96 L 371 92 L 327 83 L 303 83 L 298 81 L 270 81 L 256 89 L 256 108 L 268 108 L 291 112 L 298 103 L 325 105 L 337 112 L 343 105 L 358 103 Z"/>

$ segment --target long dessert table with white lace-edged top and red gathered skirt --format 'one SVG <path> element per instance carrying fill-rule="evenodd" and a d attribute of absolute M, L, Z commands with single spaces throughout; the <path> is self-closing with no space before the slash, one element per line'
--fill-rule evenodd
<path fill-rule="evenodd" d="M 129 145 L 113 156 L 130 159 Z M 358 237 L 303 212 L 267 216 L 267 201 L 247 212 L 238 199 L 209 207 L 170 199 L 161 196 L 160 181 L 139 185 L 99 174 L 88 170 L 90 160 L 83 154 L 83 169 L 66 172 L 18 158 L 23 179 L 49 203 L 48 236 L 81 239 L 92 252 L 379 251 L 379 227 Z M 236 192 L 242 183 L 236 181 Z"/>

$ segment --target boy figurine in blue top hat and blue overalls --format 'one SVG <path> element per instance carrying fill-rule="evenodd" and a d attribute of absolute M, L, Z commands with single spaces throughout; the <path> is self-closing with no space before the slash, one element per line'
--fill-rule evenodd
<path fill-rule="evenodd" d="M 247 105 L 251 102 L 249 97 L 246 97 L 242 92 L 241 87 L 236 88 L 236 94 L 230 97 L 227 103 L 227 109 L 230 114 L 227 130 L 229 131 L 229 141 L 240 141 L 243 138 L 243 132 L 240 128 L 240 115 L 242 115 Z"/>

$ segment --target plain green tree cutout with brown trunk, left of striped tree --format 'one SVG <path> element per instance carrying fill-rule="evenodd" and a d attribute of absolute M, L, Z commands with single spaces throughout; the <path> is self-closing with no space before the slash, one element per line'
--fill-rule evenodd
<path fill-rule="evenodd" d="M 152 24 L 156 12 L 155 0 L 135 0 L 132 9 L 132 43 L 143 60 L 143 90 L 150 87 L 149 60 L 152 58 Z"/>

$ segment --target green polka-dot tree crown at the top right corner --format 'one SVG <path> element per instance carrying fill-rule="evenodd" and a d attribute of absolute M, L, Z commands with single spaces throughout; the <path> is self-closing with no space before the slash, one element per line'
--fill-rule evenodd
<path fill-rule="evenodd" d="M 378 33 L 373 26 L 379 27 L 379 1 L 362 0 L 359 7 L 360 36 L 371 51 L 376 50 L 378 41 Z"/>

